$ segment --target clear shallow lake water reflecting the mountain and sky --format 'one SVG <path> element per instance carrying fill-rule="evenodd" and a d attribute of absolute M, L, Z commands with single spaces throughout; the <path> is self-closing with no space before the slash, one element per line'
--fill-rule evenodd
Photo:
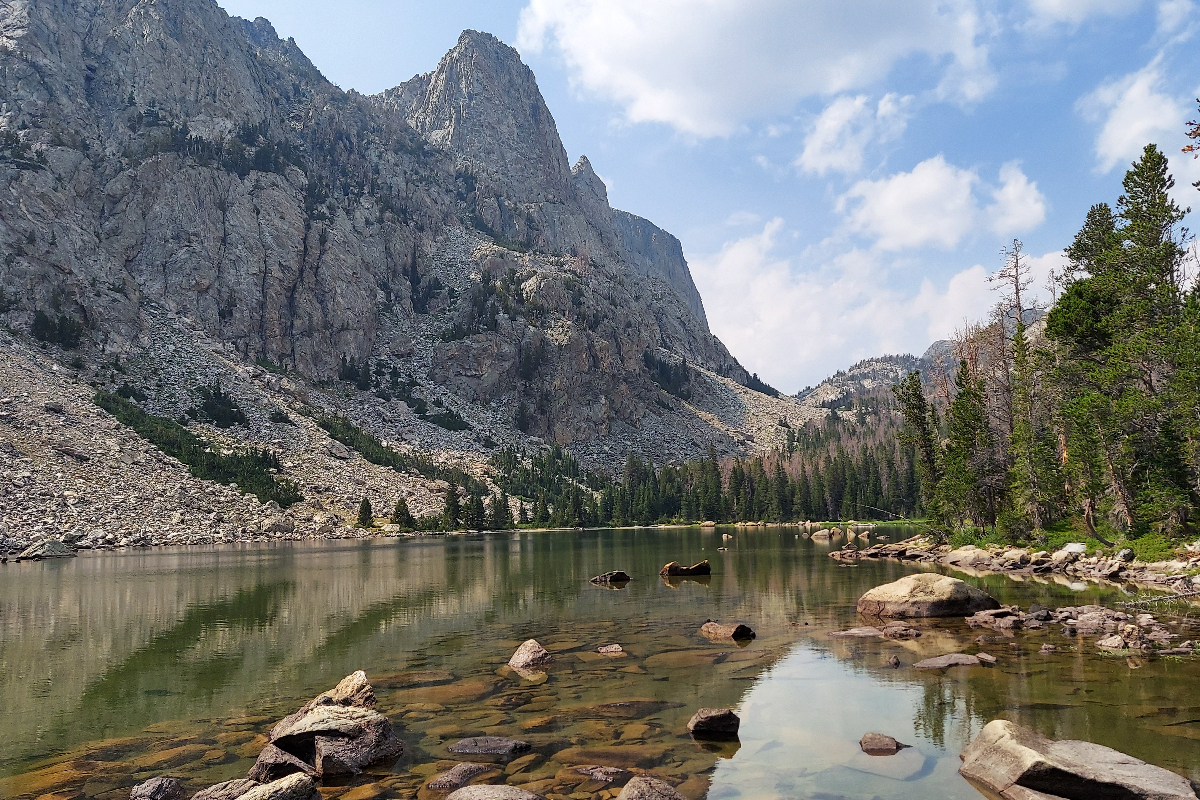
<path fill-rule="evenodd" d="M 731 540 L 721 540 L 732 533 Z M 894 536 L 907 535 L 893 531 Z M 727 552 L 718 552 L 720 546 Z M 834 541 L 832 547 L 839 547 Z M 988 721 L 1087 739 L 1200 780 L 1200 664 L 1100 655 L 1057 627 L 976 642 L 960 620 L 914 642 L 834 639 L 854 603 L 913 572 L 840 566 L 794 528 L 506 533 L 83 554 L 0 567 L 0 798 L 124 800 L 154 775 L 194 792 L 246 774 L 283 715 L 365 669 L 406 742 L 390 771 L 325 787 L 326 800 L 431 798 L 479 734 L 533 744 L 490 782 L 606 800 L 564 766 L 666 777 L 698 800 L 889 800 L 980 795 L 958 754 Z M 709 559 L 667 583 L 666 561 Z M 622 590 L 588 578 L 622 569 Z M 1002 602 L 1120 600 L 1115 588 L 973 578 Z M 698 634 L 742 621 L 748 646 Z M 1200 638 L 1189 620 L 1178 622 Z M 1189 633 L 1189 631 L 1193 631 Z M 527 638 L 554 656 L 544 682 L 504 667 Z M 1061 652 L 1039 655 L 1044 642 Z M 623 658 L 596 654 L 619 643 Z M 916 661 L 988 651 L 994 668 Z M 899 656 L 902 667 L 887 660 Z M 736 708 L 738 742 L 686 734 L 700 706 Z M 871 758 L 859 738 L 912 745 Z"/>

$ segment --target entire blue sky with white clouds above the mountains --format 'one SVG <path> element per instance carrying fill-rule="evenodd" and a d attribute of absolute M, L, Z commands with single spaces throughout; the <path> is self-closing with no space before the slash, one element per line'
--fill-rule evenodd
<path fill-rule="evenodd" d="M 787 392 L 984 317 L 1014 239 L 1052 300 L 1147 143 L 1200 209 L 1196 2 L 221 0 L 365 94 L 467 28 L 516 47 L 571 162 L 679 237 L 713 332 Z"/>

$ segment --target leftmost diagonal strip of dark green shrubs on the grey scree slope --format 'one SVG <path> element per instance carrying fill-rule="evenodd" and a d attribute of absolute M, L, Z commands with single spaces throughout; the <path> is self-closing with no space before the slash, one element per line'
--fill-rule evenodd
<path fill-rule="evenodd" d="M 272 474 L 280 469 L 280 459 L 268 450 L 224 455 L 174 420 L 146 414 L 119 395 L 97 392 L 95 402 L 155 447 L 186 464 L 196 477 L 236 483 L 260 503 L 275 500 L 283 507 L 304 499 L 294 482 Z"/>

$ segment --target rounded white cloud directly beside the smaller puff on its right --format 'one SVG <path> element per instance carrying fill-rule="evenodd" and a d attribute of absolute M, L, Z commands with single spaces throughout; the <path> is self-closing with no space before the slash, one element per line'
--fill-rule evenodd
<path fill-rule="evenodd" d="M 978 180 L 974 172 L 959 169 L 938 155 L 911 173 L 854 184 L 839 200 L 839 207 L 858 200 L 850 209 L 847 225 L 874 237 L 881 249 L 928 245 L 950 248 L 974 225 L 973 190 Z"/>

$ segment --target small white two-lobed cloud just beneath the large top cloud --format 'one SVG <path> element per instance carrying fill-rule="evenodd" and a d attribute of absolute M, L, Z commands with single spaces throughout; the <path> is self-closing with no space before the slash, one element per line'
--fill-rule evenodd
<path fill-rule="evenodd" d="M 868 145 L 904 133 L 911 102 L 912 96 L 894 94 L 884 95 L 874 107 L 866 95 L 836 98 L 812 124 L 796 166 L 817 175 L 859 172 Z"/>

